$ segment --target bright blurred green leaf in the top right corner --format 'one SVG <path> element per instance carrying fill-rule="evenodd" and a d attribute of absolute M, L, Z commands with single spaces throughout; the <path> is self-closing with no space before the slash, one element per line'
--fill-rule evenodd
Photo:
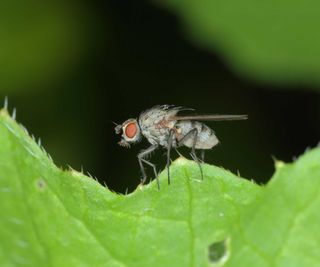
<path fill-rule="evenodd" d="M 259 81 L 319 85 L 316 0 L 166 0 L 190 39 Z M 319 87 L 318 87 L 319 88 Z"/>

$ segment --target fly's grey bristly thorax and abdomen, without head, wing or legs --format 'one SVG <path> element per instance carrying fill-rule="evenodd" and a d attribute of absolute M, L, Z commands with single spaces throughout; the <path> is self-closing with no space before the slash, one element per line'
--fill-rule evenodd
<path fill-rule="evenodd" d="M 191 120 L 175 120 L 176 114 L 183 109 L 170 106 L 155 106 L 139 116 L 141 133 L 153 145 L 168 147 L 170 131 L 173 132 L 172 147 L 192 148 L 194 136 L 191 130 L 197 129 L 195 149 L 211 149 L 219 143 L 213 130 L 204 123 Z M 185 138 L 184 138 L 185 137 Z M 182 140 L 184 138 L 184 140 Z M 182 140 L 182 143 L 180 142 Z"/>

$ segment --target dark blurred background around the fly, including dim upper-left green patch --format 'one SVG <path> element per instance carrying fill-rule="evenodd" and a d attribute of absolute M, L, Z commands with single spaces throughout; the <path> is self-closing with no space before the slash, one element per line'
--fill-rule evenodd
<path fill-rule="evenodd" d="M 17 120 L 58 166 L 83 166 L 112 190 L 138 185 L 136 154 L 148 146 L 118 146 L 112 121 L 157 104 L 248 114 L 248 121 L 209 123 L 221 144 L 206 162 L 258 183 L 270 179 L 273 157 L 292 161 L 320 140 L 317 85 L 242 76 L 219 49 L 195 45 L 179 18 L 152 2 L 1 5 L 1 98 L 9 97 Z M 164 150 L 152 161 L 163 169 Z"/>

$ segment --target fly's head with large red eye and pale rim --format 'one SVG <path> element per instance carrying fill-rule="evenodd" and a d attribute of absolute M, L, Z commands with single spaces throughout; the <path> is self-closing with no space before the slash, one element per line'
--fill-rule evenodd
<path fill-rule="evenodd" d="M 136 119 L 128 119 L 124 123 L 115 127 L 116 134 L 121 134 L 120 146 L 130 147 L 130 144 L 136 143 L 141 139 L 140 127 Z"/>

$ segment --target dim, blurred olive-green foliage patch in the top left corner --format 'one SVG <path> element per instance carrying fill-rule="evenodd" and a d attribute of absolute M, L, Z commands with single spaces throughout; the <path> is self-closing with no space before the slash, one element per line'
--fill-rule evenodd
<path fill-rule="evenodd" d="M 88 48 L 89 9 L 75 1 L 1 1 L 0 92 L 48 88 Z"/>

